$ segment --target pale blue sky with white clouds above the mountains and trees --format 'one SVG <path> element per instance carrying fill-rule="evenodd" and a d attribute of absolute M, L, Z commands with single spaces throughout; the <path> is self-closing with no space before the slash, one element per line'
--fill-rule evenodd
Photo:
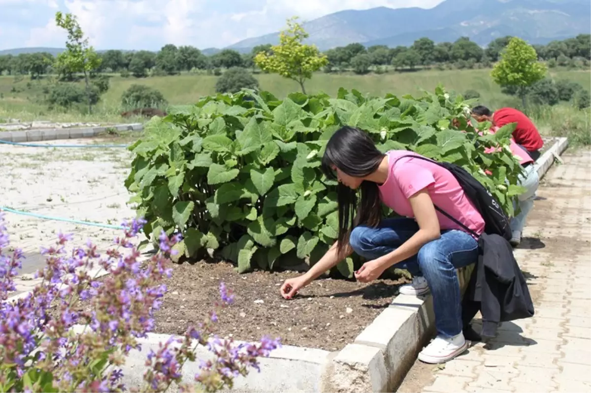
<path fill-rule="evenodd" d="M 98 50 L 158 50 L 164 44 L 225 47 L 343 9 L 431 8 L 443 0 L 0 0 L 0 50 L 63 47 L 56 11 L 72 12 Z"/>

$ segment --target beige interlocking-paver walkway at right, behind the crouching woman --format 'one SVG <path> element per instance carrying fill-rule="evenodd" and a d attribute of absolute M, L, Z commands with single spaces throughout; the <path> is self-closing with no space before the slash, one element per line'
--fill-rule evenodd
<path fill-rule="evenodd" d="M 423 392 L 591 392 L 591 152 L 547 173 L 515 251 L 535 316 L 504 323 Z"/>

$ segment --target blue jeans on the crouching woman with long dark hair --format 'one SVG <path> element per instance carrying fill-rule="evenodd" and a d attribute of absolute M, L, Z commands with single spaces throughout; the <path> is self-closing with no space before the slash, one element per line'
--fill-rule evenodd
<path fill-rule="evenodd" d="M 357 254 L 374 260 L 400 247 L 417 231 L 418 224 L 411 218 L 389 218 L 376 228 L 354 228 L 349 243 Z M 395 265 L 427 280 L 439 335 L 453 337 L 462 332 L 462 298 L 456 268 L 469 266 L 476 260 L 475 238 L 463 231 L 444 230 L 439 239 L 423 245 L 415 256 Z"/>

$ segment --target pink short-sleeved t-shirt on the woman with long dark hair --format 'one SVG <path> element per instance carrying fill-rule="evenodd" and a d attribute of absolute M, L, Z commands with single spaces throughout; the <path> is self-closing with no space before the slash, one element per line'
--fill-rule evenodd
<path fill-rule="evenodd" d="M 390 150 L 387 153 L 388 179 L 379 186 L 382 202 L 397 214 L 414 218 L 413 208 L 408 198 L 421 189 L 427 188 L 434 205 L 462 222 L 476 234 L 482 234 L 485 222 L 452 173 L 436 163 L 423 159 L 405 157 L 396 161 L 404 155 L 420 156 L 406 150 Z M 442 230 L 466 231 L 439 211 L 436 213 Z"/>

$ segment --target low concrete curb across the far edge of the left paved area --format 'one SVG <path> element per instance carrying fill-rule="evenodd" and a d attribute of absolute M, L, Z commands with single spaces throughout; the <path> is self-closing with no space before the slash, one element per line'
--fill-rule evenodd
<path fill-rule="evenodd" d="M 121 124 L 115 126 L 85 127 L 85 128 L 56 128 L 46 130 L 1 131 L 0 140 L 6 142 L 40 142 L 42 140 L 78 139 L 98 136 L 108 129 L 118 131 L 141 131 L 142 123 Z"/>

